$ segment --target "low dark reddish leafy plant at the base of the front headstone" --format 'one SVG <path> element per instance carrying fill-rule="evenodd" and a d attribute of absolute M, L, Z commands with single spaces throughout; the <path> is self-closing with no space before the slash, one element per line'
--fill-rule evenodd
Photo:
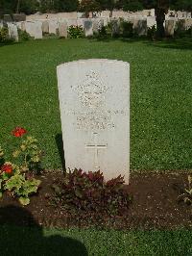
<path fill-rule="evenodd" d="M 100 171 L 69 171 L 62 180 L 55 181 L 53 191 L 51 204 L 82 218 L 120 215 L 131 202 L 124 190 L 124 178 L 118 176 L 105 182 Z"/>

